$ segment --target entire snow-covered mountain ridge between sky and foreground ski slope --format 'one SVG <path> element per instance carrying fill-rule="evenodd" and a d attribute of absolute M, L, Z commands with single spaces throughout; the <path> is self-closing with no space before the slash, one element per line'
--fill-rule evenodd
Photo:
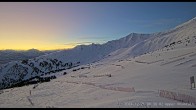
<path fill-rule="evenodd" d="M 196 45 L 196 19 L 174 29 L 130 35 L 105 44 L 79 45 L 70 50 L 42 55 L 34 59 L 7 63 L 0 67 L 0 88 L 73 67 L 97 61 L 114 61 L 136 57 L 159 50 L 194 47 Z"/>

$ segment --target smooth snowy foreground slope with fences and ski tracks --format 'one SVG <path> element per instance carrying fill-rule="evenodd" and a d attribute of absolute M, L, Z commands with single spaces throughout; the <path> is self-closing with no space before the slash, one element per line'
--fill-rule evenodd
<path fill-rule="evenodd" d="M 195 70 L 196 47 L 95 62 L 50 82 L 4 89 L 0 107 L 195 108 L 196 100 L 191 104 L 159 95 L 160 90 L 167 90 L 196 98 L 189 82 Z"/>

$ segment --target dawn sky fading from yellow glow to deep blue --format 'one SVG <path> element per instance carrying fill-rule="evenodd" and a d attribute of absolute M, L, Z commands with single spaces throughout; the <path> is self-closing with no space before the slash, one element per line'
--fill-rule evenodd
<path fill-rule="evenodd" d="M 0 50 L 73 48 L 166 31 L 196 17 L 196 2 L 0 2 Z"/>

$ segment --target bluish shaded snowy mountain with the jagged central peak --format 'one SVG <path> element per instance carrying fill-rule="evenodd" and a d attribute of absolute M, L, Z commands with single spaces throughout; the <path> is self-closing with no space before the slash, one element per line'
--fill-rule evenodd
<path fill-rule="evenodd" d="M 58 58 L 67 62 L 80 62 L 81 64 L 87 64 L 96 62 L 104 57 L 107 57 L 111 52 L 122 48 L 131 47 L 139 42 L 142 42 L 150 37 L 149 34 L 136 34 L 123 37 L 118 40 L 109 41 L 105 44 L 91 44 L 91 45 L 79 45 L 71 50 L 64 50 L 52 55 L 48 55 L 49 58 Z"/>

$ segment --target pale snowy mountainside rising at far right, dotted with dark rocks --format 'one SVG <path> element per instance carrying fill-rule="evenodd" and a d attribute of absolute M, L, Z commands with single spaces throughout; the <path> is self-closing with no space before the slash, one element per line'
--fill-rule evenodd
<path fill-rule="evenodd" d="M 152 36 L 152 38 L 135 45 L 130 54 L 137 56 L 158 49 L 195 46 L 196 18 L 179 25 L 174 29 L 154 33 Z M 181 43 L 184 45 L 181 45 Z"/>

